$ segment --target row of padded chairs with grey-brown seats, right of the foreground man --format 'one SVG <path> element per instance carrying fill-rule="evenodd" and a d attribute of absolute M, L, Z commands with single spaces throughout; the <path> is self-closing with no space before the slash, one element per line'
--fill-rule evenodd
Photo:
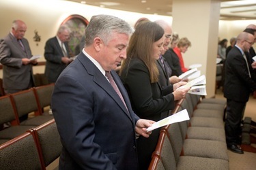
<path fill-rule="evenodd" d="M 173 114 L 187 109 L 190 120 L 164 126 L 149 169 L 229 169 L 223 117 L 226 102 L 187 94 Z"/>

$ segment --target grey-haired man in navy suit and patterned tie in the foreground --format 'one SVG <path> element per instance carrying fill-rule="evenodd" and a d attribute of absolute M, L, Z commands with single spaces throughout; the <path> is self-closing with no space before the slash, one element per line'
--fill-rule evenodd
<path fill-rule="evenodd" d="M 63 150 L 59 169 L 138 169 L 136 135 L 154 121 L 139 119 L 114 69 L 126 58 L 132 28 L 114 16 L 93 16 L 85 48 L 64 71 L 52 97 Z"/>

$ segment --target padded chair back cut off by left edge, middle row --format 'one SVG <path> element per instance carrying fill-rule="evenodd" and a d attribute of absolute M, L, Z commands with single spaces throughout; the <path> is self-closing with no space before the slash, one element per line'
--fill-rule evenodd
<path fill-rule="evenodd" d="M 0 97 L 0 108 L 0 124 L 12 122 L 12 120 L 16 119 L 12 101 L 8 95 Z"/>

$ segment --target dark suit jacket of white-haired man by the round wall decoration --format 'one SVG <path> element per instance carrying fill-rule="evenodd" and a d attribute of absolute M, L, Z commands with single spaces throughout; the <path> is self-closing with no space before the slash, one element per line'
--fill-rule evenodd
<path fill-rule="evenodd" d="M 67 50 L 68 58 L 70 58 L 68 42 L 64 42 L 64 45 Z M 61 50 L 61 46 L 59 46 L 57 37 L 48 39 L 44 47 L 44 58 L 46 59 L 44 74 L 49 82 L 56 82 L 61 71 L 66 68 L 67 65 L 61 61 L 62 56 L 64 56 L 64 54 Z"/>

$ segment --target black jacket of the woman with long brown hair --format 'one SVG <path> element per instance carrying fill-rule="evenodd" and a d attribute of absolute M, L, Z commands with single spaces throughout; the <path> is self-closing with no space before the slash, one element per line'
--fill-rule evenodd
<path fill-rule="evenodd" d="M 139 58 L 133 58 L 120 76 L 132 109 L 140 118 L 158 121 L 162 112 L 174 108 L 173 94 L 164 94 L 159 82 L 150 82 L 150 72 Z"/>

